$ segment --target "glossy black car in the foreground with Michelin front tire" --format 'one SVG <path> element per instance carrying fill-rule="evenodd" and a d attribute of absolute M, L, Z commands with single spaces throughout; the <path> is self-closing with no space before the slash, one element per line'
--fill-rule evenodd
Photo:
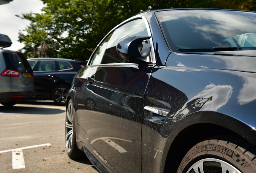
<path fill-rule="evenodd" d="M 142 12 L 75 76 L 68 156 L 102 173 L 255 173 L 255 86 L 255 12 Z"/>

